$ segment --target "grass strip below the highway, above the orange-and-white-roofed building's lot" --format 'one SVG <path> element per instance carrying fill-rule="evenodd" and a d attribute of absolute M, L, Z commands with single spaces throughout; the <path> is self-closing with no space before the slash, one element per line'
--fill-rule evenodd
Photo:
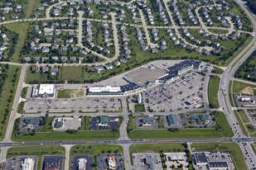
<path fill-rule="evenodd" d="M 70 157 L 74 157 L 75 154 L 89 154 L 91 156 L 98 156 L 101 153 L 123 154 L 123 148 L 118 144 L 97 144 L 97 145 L 91 144 L 91 145 L 75 145 L 70 149 Z"/>

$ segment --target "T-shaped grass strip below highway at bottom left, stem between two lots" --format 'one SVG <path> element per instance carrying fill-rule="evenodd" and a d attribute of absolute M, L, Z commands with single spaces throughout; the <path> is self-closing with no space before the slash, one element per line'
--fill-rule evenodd
<path fill-rule="evenodd" d="M 7 150 L 7 158 L 28 155 L 34 155 L 38 158 L 36 170 L 41 170 L 44 155 L 65 156 L 65 149 L 61 146 L 17 146 Z"/>

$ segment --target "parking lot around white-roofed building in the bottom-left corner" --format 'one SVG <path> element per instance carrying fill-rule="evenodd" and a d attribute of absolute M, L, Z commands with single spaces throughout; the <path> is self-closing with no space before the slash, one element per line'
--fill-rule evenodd
<path fill-rule="evenodd" d="M 34 159 L 33 170 L 36 170 L 37 157 L 35 157 L 35 156 L 9 158 L 5 161 L 5 163 L 2 163 L 2 170 L 10 170 L 10 169 L 22 170 L 22 163 L 25 160 L 25 158 L 33 158 Z"/>

